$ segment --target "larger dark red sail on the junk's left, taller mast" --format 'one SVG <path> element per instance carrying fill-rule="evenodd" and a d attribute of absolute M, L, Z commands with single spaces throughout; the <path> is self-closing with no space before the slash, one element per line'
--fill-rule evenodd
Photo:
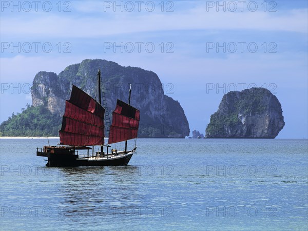
<path fill-rule="evenodd" d="M 83 146 L 104 144 L 105 109 L 87 93 L 73 85 L 65 103 L 60 144 Z"/>

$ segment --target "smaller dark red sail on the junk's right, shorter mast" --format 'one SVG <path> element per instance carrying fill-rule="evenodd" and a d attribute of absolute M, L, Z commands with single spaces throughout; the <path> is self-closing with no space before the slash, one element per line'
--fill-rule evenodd
<path fill-rule="evenodd" d="M 140 111 L 121 100 L 112 113 L 108 144 L 137 138 Z"/>

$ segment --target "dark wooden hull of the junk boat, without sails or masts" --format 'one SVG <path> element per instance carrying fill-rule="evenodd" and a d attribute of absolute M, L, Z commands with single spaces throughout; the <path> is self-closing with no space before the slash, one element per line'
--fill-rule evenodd
<path fill-rule="evenodd" d="M 126 154 L 108 155 L 108 157 L 94 156 L 79 158 L 78 155 L 74 155 L 73 153 L 51 153 L 42 151 L 37 151 L 36 156 L 47 157 L 47 167 L 117 166 L 127 165 L 135 150 L 136 148 Z"/>

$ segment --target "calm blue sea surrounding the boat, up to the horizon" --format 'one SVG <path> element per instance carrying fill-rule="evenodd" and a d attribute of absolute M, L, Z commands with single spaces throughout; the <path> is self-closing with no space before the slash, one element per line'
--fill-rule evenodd
<path fill-rule="evenodd" d="M 128 166 L 75 168 L 0 143 L 1 230 L 308 228 L 304 139 L 138 139 Z"/>

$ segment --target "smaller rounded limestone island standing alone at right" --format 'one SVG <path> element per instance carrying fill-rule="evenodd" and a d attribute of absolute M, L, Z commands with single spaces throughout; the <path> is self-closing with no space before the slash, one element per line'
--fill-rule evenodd
<path fill-rule="evenodd" d="M 265 88 L 231 91 L 211 115 L 206 138 L 275 138 L 283 128 L 281 105 Z"/>

